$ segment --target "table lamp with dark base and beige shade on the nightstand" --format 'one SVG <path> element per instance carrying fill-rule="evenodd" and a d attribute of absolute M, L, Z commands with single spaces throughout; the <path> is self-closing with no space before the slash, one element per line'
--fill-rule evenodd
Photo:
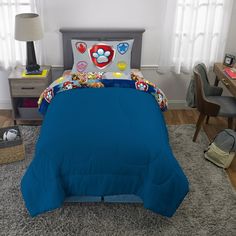
<path fill-rule="evenodd" d="M 26 41 L 27 61 L 26 74 L 41 74 L 40 66 L 37 64 L 34 42 L 42 39 L 43 30 L 40 17 L 35 13 L 23 13 L 15 18 L 15 39 Z"/>

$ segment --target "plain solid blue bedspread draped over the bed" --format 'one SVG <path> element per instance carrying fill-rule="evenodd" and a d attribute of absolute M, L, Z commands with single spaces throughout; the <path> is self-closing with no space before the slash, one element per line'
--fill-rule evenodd
<path fill-rule="evenodd" d="M 144 207 L 170 217 L 188 181 L 152 95 L 88 88 L 52 100 L 21 190 L 31 216 L 60 207 L 68 196 L 136 194 Z"/>

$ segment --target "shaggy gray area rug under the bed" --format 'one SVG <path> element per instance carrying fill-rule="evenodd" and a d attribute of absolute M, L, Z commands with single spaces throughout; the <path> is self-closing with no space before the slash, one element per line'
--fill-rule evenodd
<path fill-rule="evenodd" d="M 190 192 L 172 218 L 139 204 L 66 203 L 30 218 L 19 190 L 39 128 L 22 126 L 26 160 L 0 166 L 0 235 L 236 235 L 236 193 L 224 170 L 204 160 L 208 144 L 193 125 L 169 126 L 173 152 L 190 181 Z"/>

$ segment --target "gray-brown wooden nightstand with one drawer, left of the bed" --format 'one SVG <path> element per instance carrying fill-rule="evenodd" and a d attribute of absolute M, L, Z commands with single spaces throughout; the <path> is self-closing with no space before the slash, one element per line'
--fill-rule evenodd
<path fill-rule="evenodd" d="M 38 112 L 38 107 L 35 104 L 40 94 L 48 87 L 52 80 L 50 66 L 41 66 L 42 70 L 47 70 L 47 74 L 44 77 L 35 75 L 27 76 L 27 78 L 22 77 L 24 69 L 25 67 L 23 66 L 16 67 L 8 77 L 14 124 L 18 120 L 42 120 L 43 117 Z M 24 103 L 30 105 L 25 106 Z"/>

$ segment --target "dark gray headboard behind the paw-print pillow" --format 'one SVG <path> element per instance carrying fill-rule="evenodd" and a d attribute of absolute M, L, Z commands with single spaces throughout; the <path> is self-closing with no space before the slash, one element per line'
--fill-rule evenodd
<path fill-rule="evenodd" d="M 63 64 L 64 69 L 73 67 L 73 52 L 71 39 L 96 40 L 96 41 L 119 41 L 134 39 L 131 68 L 140 69 L 142 36 L 145 29 L 60 29 L 63 41 Z"/>

